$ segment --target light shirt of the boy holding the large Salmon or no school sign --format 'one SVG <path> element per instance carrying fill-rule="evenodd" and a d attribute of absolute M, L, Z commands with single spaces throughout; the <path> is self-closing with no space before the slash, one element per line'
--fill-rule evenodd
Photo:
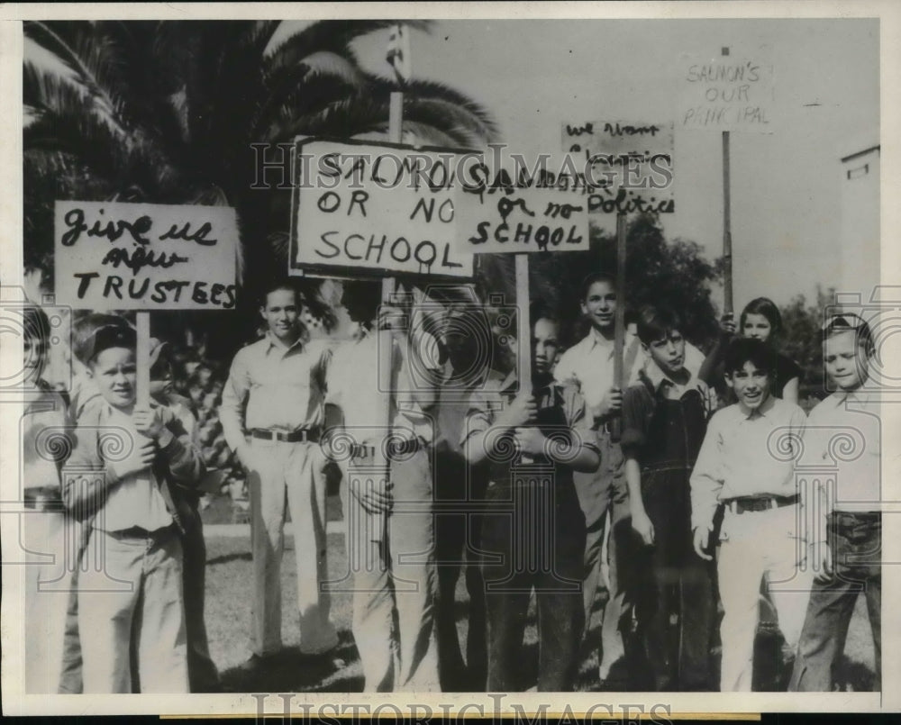
<path fill-rule="evenodd" d="M 399 343 L 393 340 L 390 393 L 379 390 L 378 332 L 361 330 L 356 340 L 341 342 L 334 349 L 326 376 L 325 402 L 341 408 L 344 429 L 359 445 L 378 446 L 384 440 L 385 423 L 378 421 L 378 415 L 382 409 L 380 398 L 386 394 L 392 434 L 405 440 L 418 438 L 423 443 L 432 442 L 432 416 L 423 412 L 413 395 L 415 390 L 433 385 L 441 376 L 434 352 L 437 343 L 431 335 L 424 335 L 417 344 L 417 358 L 422 367 L 411 371 L 410 351 L 402 354 Z"/>

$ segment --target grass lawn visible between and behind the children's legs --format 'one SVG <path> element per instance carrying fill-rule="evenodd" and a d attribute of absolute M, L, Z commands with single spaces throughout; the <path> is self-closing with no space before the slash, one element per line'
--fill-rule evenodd
<path fill-rule="evenodd" d="M 330 497 L 332 498 L 332 497 Z M 333 510 L 334 502 L 330 501 Z M 330 517 L 332 518 L 332 517 Z M 287 527 L 289 530 L 290 527 Z M 340 643 L 334 657 L 340 657 L 346 666 L 335 671 L 332 658 L 304 657 L 297 650 L 299 641 L 296 616 L 296 575 L 294 572 L 293 539 L 287 537 L 285 558 L 282 563 L 282 639 L 285 652 L 272 662 L 272 666 L 259 675 L 250 676 L 237 666 L 250 655 L 250 540 L 246 537 L 216 538 L 207 533 L 206 566 L 206 627 L 210 640 L 210 653 L 219 666 L 223 685 L 232 692 L 359 692 L 363 689 L 363 675 L 359 666 L 359 654 L 350 634 L 351 606 L 348 579 L 345 592 L 332 593 L 332 621 L 338 628 Z M 348 574 L 344 540 L 341 534 L 330 534 L 329 575 L 341 580 Z M 460 641 L 465 642 L 467 622 L 462 603 L 468 600 L 463 577 L 457 589 L 460 620 Z M 585 657 L 579 668 L 578 690 L 597 689 L 596 643 L 600 639 L 598 612 L 592 618 Z M 534 603 L 530 608 L 529 625 L 525 634 L 526 654 L 523 658 L 524 674 L 528 678 L 537 666 L 537 630 Z M 465 651 L 465 647 L 463 648 Z M 776 689 L 777 673 L 782 655 L 776 636 L 761 634 L 757 642 L 756 686 L 760 689 Z M 839 668 L 842 689 L 869 690 L 873 682 L 873 644 L 869 631 L 866 606 L 863 598 L 851 620 L 845 656 Z M 532 677 L 533 681 L 533 677 Z"/>

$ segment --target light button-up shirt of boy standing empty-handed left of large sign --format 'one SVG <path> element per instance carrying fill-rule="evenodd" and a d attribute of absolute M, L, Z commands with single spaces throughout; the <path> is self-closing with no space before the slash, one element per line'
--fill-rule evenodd
<path fill-rule="evenodd" d="M 329 351 L 323 340 L 302 336 L 285 346 L 267 333 L 232 360 L 223 388 L 219 420 L 232 450 L 254 428 L 283 430 L 323 424 L 325 369 Z"/>

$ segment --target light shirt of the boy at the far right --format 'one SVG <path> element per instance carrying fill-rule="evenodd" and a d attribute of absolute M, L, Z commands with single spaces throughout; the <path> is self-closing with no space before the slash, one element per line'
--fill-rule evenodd
<path fill-rule="evenodd" d="M 810 412 L 801 462 L 835 467 L 835 510 L 879 510 L 880 435 L 878 395 L 871 391 L 837 391 Z"/>

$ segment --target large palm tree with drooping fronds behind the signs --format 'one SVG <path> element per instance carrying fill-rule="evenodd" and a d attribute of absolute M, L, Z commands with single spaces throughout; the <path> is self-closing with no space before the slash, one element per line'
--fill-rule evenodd
<path fill-rule="evenodd" d="M 287 267 L 290 202 L 250 188 L 250 144 L 387 132 L 395 84 L 360 68 L 353 43 L 395 23 L 25 23 L 27 40 L 52 59 L 26 53 L 26 180 L 51 174 L 59 190 L 98 199 L 234 206 L 252 285 L 274 264 Z M 430 82 L 405 88 L 405 124 L 424 143 L 455 148 L 496 137 L 484 108 Z M 32 189 L 26 218 L 47 211 Z M 50 239 L 25 243 L 47 249 Z"/>

